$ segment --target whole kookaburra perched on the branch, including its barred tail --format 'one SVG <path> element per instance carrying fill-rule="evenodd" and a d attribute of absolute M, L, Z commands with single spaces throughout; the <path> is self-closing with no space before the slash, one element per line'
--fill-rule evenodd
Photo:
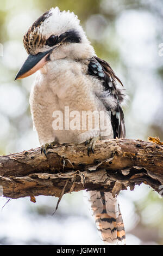
<path fill-rule="evenodd" d="M 106 61 L 96 56 L 78 17 L 70 11 L 52 8 L 37 19 L 23 38 L 29 54 L 16 79 L 26 78 L 37 70 L 30 93 L 34 127 L 39 135 L 41 152 L 47 157 L 47 147 L 59 144 L 86 143 L 88 153 L 98 139 L 124 138 L 125 126 L 121 104 L 125 98 L 121 81 Z M 121 85 L 120 85 L 121 84 Z M 76 129 L 53 126 L 56 113 L 69 111 L 100 112 L 108 123 L 107 133 L 79 121 Z M 57 111 L 57 112 L 56 112 Z M 58 112 L 59 111 L 59 112 Z M 77 115 L 79 117 L 79 115 Z M 95 123 L 95 117 L 93 122 Z M 88 121 L 87 121 L 88 122 Z M 125 232 L 117 199 L 111 193 L 89 192 L 89 201 L 98 230 L 105 243 L 125 244 Z"/>

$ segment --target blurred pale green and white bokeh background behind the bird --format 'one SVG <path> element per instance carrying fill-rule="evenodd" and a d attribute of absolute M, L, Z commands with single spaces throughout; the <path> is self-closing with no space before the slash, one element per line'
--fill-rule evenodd
<path fill-rule="evenodd" d="M 22 38 L 51 7 L 78 15 L 99 57 L 111 64 L 130 97 L 127 138 L 163 140 L 162 0 L 3 0 L 0 2 L 0 154 L 39 146 L 29 93 L 35 75 L 14 81 L 27 53 Z M 3 50 L 3 52 L 2 52 Z M 2 56 L 3 53 L 3 56 Z M 82 192 L 57 199 L 0 198 L 1 245 L 101 245 Z M 146 185 L 119 196 L 128 245 L 163 245 L 163 199 Z M 5 205 L 5 203 L 7 203 Z M 5 206 L 4 206 L 5 205 Z M 4 206 L 4 207 L 3 207 Z"/>

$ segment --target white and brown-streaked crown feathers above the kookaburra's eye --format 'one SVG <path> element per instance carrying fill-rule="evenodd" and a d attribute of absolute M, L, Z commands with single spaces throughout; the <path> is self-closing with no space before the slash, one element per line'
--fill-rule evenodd
<path fill-rule="evenodd" d="M 46 41 L 53 34 L 60 38 L 59 44 L 66 43 L 69 36 L 68 32 L 72 37 L 78 35 L 82 43 L 90 44 L 82 26 L 80 26 L 78 17 L 74 13 L 60 11 L 58 7 L 52 8 L 40 16 L 28 29 L 23 38 L 24 47 L 28 54 L 35 55 L 38 52 L 48 50 Z"/>

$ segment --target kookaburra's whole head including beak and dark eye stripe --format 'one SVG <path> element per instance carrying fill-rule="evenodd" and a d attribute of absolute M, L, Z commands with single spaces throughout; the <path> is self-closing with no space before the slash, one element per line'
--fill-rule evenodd
<path fill-rule="evenodd" d="M 70 11 L 60 11 L 58 7 L 50 9 L 33 23 L 24 35 L 23 43 L 29 56 L 15 80 L 26 78 L 57 59 L 78 61 L 94 54 L 78 17 Z"/>

